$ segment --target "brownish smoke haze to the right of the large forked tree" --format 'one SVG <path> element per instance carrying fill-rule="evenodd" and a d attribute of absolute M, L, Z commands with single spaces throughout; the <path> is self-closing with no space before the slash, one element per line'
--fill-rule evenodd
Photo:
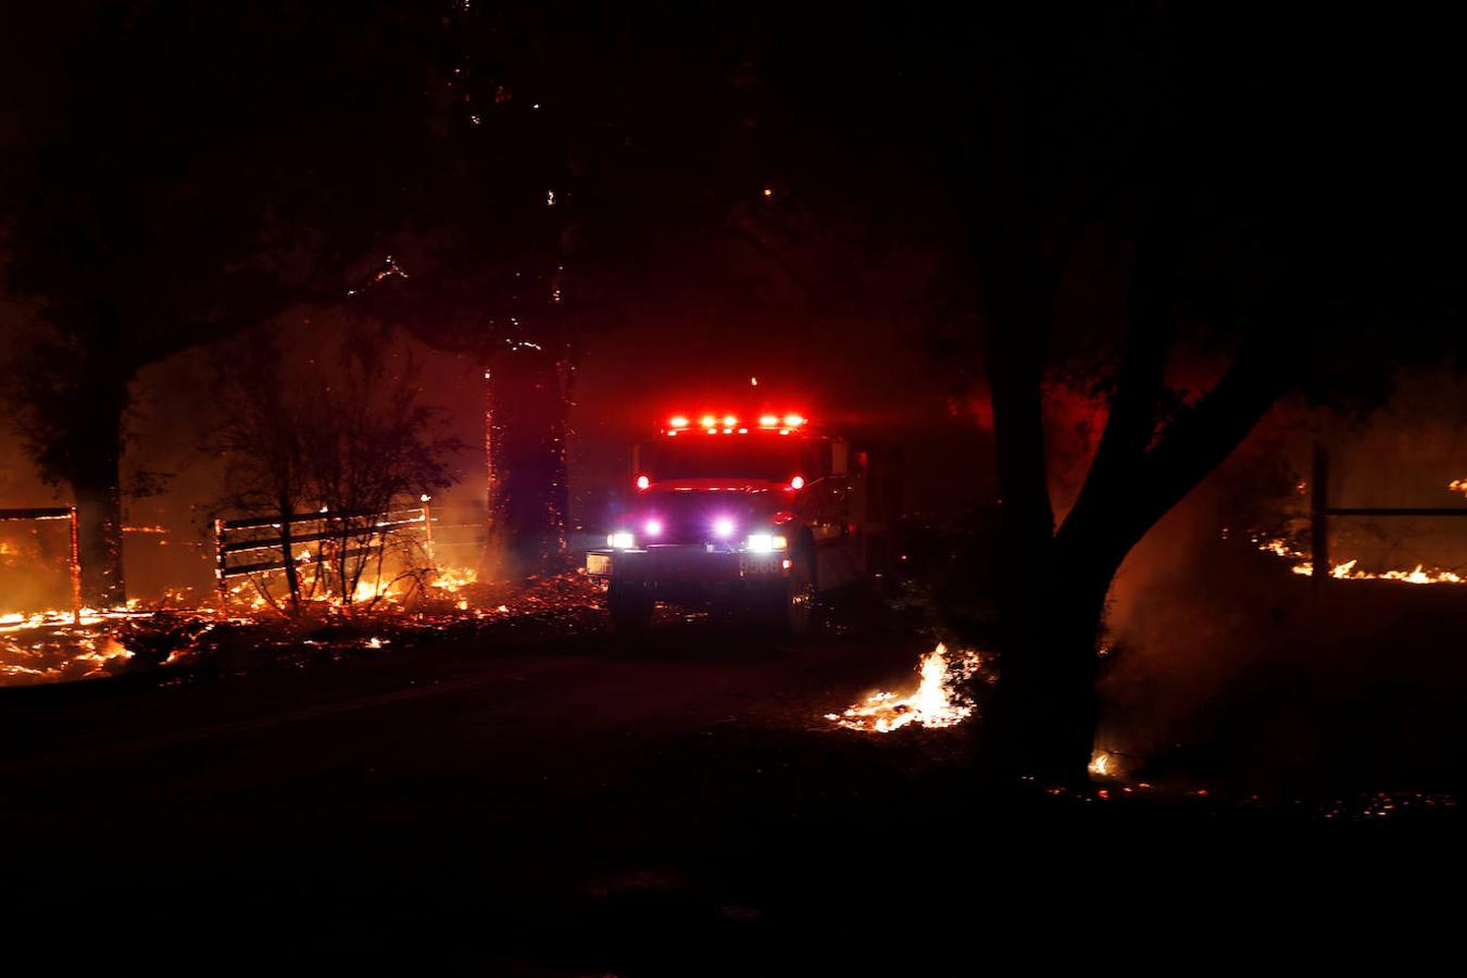
<path fill-rule="evenodd" d="M 1307 528 L 1311 443 L 1335 506 L 1452 506 L 1467 390 L 1402 377 L 1367 418 L 1281 408 L 1128 556 L 1112 587 L 1097 746 L 1153 776 L 1240 790 L 1430 787 L 1467 742 L 1467 589 L 1292 573 L 1250 531 Z M 1458 475 L 1460 478 L 1460 475 Z M 1336 519 L 1336 562 L 1370 570 L 1467 562 L 1467 519 Z M 1295 543 L 1307 553 L 1307 535 Z M 1245 774 L 1244 774 L 1245 773 Z"/>

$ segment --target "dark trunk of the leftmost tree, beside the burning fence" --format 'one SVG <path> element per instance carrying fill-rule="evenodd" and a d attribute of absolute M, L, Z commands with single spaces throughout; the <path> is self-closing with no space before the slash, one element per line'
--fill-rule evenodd
<path fill-rule="evenodd" d="M 95 424 L 78 438 L 67 481 L 81 535 L 82 601 L 113 609 L 128 603 L 122 565 L 123 400 L 98 396 L 95 403 Z"/>

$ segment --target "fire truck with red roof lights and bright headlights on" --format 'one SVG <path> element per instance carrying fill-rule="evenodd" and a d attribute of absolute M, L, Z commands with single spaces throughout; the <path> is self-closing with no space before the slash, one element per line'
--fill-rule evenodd
<path fill-rule="evenodd" d="M 822 591 L 879 573 L 888 479 L 800 413 L 675 415 L 632 447 L 635 494 L 585 570 L 619 632 L 659 601 L 804 633 Z"/>

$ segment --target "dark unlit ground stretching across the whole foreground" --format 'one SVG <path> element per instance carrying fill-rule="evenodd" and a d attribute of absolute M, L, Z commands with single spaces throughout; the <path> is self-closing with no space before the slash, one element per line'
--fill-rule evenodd
<path fill-rule="evenodd" d="M 1454 940 L 1454 808 L 1000 798 L 965 730 L 820 718 L 920 651 L 695 623 L 0 691 L 7 944 L 204 972 L 826 975 L 1400 968 Z"/>

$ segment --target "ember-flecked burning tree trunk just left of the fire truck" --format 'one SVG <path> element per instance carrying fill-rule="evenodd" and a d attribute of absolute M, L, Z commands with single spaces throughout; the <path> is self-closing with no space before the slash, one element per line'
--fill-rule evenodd
<path fill-rule="evenodd" d="M 486 377 L 487 560 L 511 576 L 559 569 L 566 554 L 569 364 L 538 345 L 511 343 Z"/>

